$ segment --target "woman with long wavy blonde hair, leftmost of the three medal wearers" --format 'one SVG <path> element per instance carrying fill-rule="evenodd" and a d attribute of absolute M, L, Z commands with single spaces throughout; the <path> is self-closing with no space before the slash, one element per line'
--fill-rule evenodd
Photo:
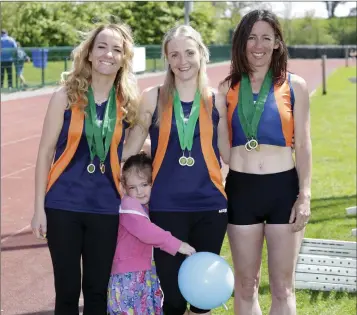
<path fill-rule="evenodd" d="M 98 26 L 72 55 L 73 69 L 52 96 L 43 126 L 31 225 L 48 240 L 55 314 L 78 314 L 82 288 L 83 314 L 105 315 L 124 132 L 138 108 L 131 32 Z"/>

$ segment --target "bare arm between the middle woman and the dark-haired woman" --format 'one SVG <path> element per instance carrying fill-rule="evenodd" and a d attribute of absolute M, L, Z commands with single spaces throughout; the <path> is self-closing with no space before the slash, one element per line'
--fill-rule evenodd
<path fill-rule="evenodd" d="M 228 136 L 228 122 L 227 122 L 227 106 L 226 106 L 226 88 L 220 86 L 216 94 L 216 108 L 219 112 L 218 123 L 218 148 L 223 159 L 223 162 L 229 164 L 231 146 Z"/>

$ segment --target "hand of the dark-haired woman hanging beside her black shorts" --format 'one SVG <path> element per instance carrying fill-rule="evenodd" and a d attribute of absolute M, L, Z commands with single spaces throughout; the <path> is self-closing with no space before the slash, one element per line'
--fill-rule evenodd
<path fill-rule="evenodd" d="M 310 218 L 310 197 L 299 195 L 292 208 L 289 223 L 293 232 L 303 230 Z"/>

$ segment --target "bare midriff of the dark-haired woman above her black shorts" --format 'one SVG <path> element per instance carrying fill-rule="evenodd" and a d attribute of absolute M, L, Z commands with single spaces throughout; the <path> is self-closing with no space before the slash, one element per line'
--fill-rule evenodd
<path fill-rule="evenodd" d="M 244 146 L 231 149 L 229 168 L 249 174 L 272 174 L 291 170 L 295 163 L 291 147 L 261 144 L 259 150 L 247 151 Z"/>

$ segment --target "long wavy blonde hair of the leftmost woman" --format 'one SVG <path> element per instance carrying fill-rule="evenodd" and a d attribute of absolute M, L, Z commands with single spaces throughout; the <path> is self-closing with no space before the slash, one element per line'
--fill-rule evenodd
<path fill-rule="evenodd" d="M 123 37 L 123 66 L 117 73 L 114 85 L 124 111 L 123 119 L 132 126 L 137 120 L 139 92 L 133 73 L 134 40 L 127 25 L 122 23 L 101 24 L 94 30 L 85 33 L 85 39 L 72 51 L 72 69 L 62 73 L 61 83 L 67 90 L 68 107 L 78 105 L 84 110 L 88 103 L 86 92 L 92 80 L 92 65 L 88 60 L 89 53 L 93 49 L 98 34 L 106 29 L 116 31 Z"/>

